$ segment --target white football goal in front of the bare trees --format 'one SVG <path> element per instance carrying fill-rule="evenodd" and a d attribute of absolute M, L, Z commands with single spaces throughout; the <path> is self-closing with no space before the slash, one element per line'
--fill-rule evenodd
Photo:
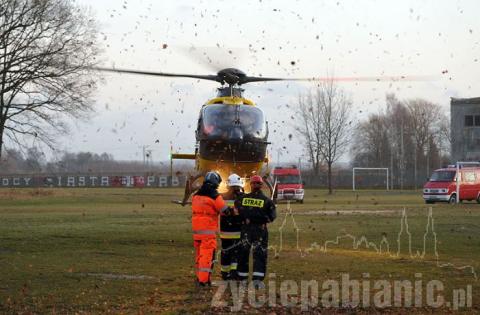
<path fill-rule="evenodd" d="M 383 188 L 389 190 L 389 172 L 386 167 L 354 167 L 352 169 L 352 189 Z"/>

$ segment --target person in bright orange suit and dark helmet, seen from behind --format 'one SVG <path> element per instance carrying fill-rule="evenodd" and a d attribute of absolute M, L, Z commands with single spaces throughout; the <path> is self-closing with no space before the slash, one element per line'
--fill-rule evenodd
<path fill-rule="evenodd" d="M 217 191 L 221 182 L 218 173 L 208 172 L 202 187 L 192 197 L 196 284 L 201 287 L 211 285 L 210 276 L 217 249 L 218 218 L 230 209 Z"/>

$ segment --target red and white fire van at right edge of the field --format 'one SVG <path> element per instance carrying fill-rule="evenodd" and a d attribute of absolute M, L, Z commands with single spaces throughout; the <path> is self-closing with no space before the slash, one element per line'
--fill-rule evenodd
<path fill-rule="evenodd" d="M 476 200 L 480 203 L 480 167 L 462 167 L 459 169 L 459 197 L 462 200 Z M 446 201 L 455 203 L 457 198 L 457 168 L 435 170 L 429 181 L 423 186 L 423 199 L 426 203 Z"/>

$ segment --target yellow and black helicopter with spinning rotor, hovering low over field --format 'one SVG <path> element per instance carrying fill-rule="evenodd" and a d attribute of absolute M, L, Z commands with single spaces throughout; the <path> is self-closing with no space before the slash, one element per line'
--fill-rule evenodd
<path fill-rule="evenodd" d="M 250 189 L 249 178 L 260 175 L 267 183 L 272 197 L 275 184 L 268 179 L 268 124 L 263 111 L 256 104 L 242 96 L 241 85 L 264 81 L 386 81 L 412 80 L 406 77 L 347 77 L 347 78 L 272 78 L 248 76 L 235 68 L 226 68 L 216 75 L 174 74 L 127 69 L 95 68 L 100 71 L 150 75 L 162 77 L 184 77 L 216 81 L 221 84 L 217 97 L 208 100 L 201 108 L 195 131 L 195 152 L 191 154 L 171 152 L 174 159 L 195 160 L 195 175 L 189 176 L 182 200 L 174 201 L 185 205 L 191 195 L 200 187 L 206 172 L 217 171 L 222 177 L 220 192 L 227 191 L 226 178 L 236 173 L 246 183 L 245 190 Z M 264 167 L 266 166 L 266 167 Z M 173 168 L 171 167 L 173 175 Z"/>

